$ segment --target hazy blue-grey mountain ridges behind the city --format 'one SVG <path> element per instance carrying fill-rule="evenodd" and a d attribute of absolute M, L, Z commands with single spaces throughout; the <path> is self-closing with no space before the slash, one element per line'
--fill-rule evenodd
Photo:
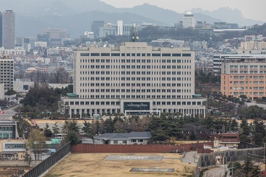
<path fill-rule="evenodd" d="M 35 35 L 42 33 L 45 28 L 67 27 L 67 32 L 70 33 L 71 37 L 78 37 L 82 32 L 80 30 L 91 29 L 91 23 L 94 20 L 104 20 L 105 23 L 116 23 L 117 20 L 123 20 L 124 23 L 128 24 L 147 22 L 162 26 L 173 26 L 174 23 L 182 21 L 184 16 L 183 13 L 148 3 L 136 5 L 132 8 L 116 8 L 100 0 L 0 0 L 0 4 L 0 11 L 13 9 L 16 13 L 17 36 Z M 22 6 L 23 8 L 21 8 Z M 191 11 L 197 21 L 206 21 L 210 24 L 213 22 L 228 22 L 238 23 L 240 26 L 249 26 L 263 23 L 245 19 L 241 11 L 229 7 L 221 7 L 214 11 L 195 8 Z M 82 16 L 86 12 L 89 15 Z M 33 21 L 31 22 L 31 20 Z M 27 24 L 27 26 L 23 24 Z M 28 29 L 28 27 L 31 27 L 31 29 Z M 32 34 L 30 34 L 30 31 Z"/>

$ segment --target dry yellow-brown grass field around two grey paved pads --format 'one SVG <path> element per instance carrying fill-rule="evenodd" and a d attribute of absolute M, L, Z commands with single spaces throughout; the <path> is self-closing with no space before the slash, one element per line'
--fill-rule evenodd
<path fill-rule="evenodd" d="M 103 160 L 107 155 L 160 155 L 164 156 L 164 159 L 162 161 Z M 178 158 L 181 158 L 181 155 L 172 153 L 71 153 L 44 177 L 186 177 L 191 175 L 196 166 L 181 163 Z M 130 172 L 132 168 L 173 168 L 174 172 Z"/>

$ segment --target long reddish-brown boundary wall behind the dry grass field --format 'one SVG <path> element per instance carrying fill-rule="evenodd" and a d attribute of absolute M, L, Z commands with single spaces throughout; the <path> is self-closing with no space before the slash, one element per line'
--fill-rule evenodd
<path fill-rule="evenodd" d="M 204 145 L 213 146 L 213 142 L 193 143 L 181 145 L 71 145 L 71 153 L 169 153 L 173 149 L 188 152 L 203 148 Z"/>

